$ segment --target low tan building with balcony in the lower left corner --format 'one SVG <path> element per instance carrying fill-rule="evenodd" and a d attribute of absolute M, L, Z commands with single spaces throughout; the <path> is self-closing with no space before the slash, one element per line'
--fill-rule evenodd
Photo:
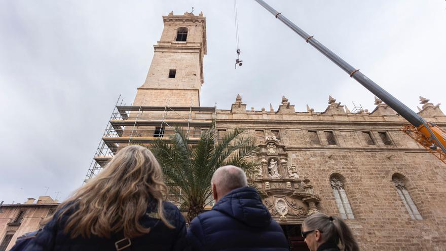
<path fill-rule="evenodd" d="M 0 250 L 9 250 L 17 237 L 38 230 L 42 222 L 51 216 L 59 205 L 50 196 L 29 198 L 23 204 L 2 205 L 0 207 Z"/>

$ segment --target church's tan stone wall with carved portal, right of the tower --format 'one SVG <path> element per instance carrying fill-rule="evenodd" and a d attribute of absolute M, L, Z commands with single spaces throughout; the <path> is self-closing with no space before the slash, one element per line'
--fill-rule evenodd
<path fill-rule="evenodd" d="M 246 111 L 240 96 L 232 110 L 217 110 L 218 130 L 245 128 L 256 139 L 262 165 L 251 178 L 273 218 L 293 225 L 317 211 L 341 217 L 330 184 L 339 177 L 354 218 L 346 222 L 361 250 L 444 250 L 446 164 L 406 135 L 408 122 L 387 105 L 350 113 L 329 100 L 321 113 L 295 112 L 286 98 L 277 111 Z M 446 126 L 438 106 L 420 113 Z M 394 175 L 404 178 L 421 220 L 411 218 Z"/>

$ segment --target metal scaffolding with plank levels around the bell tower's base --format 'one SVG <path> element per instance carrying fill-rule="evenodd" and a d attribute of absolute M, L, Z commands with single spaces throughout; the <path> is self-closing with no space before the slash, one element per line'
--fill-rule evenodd
<path fill-rule="evenodd" d="M 216 119 L 216 106 L 137 106 L 122 103 L 120 95 L 84 183 L 128 145 L 149 146 L 157 139 L 170 139 L 175 127 L 186 129 L 189 141 L 197 142 L 202 131 L 207 130 Z"/>

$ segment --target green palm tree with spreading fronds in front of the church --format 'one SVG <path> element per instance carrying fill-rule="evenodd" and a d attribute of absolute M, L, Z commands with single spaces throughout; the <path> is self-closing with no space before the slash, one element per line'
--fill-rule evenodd
<path fill-rule="evenodd" d="M 243 129 L 233 129 L 216 144 L 215 123 L 198 142 L 189 140 L 188 131 L 175 128 L 170 140 L 157 139 L 151 150 L 163 168 L 166 183 L 183 201 L 190 222 L 210 201 L 212 174 L 224 165 L 235 165 L 250 172 L 258 162 L 252 160 L 257 147 Z"/>

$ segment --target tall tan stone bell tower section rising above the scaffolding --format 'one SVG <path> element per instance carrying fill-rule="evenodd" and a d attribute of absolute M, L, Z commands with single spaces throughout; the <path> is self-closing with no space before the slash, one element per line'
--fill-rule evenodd
<path fill-rule="evenodd" d="M 163 16 L 164 30 L 155 48 L 147 78 L 133 105 L 200 106 L 203 56 L 206 54 L 206 18 Z"/>

